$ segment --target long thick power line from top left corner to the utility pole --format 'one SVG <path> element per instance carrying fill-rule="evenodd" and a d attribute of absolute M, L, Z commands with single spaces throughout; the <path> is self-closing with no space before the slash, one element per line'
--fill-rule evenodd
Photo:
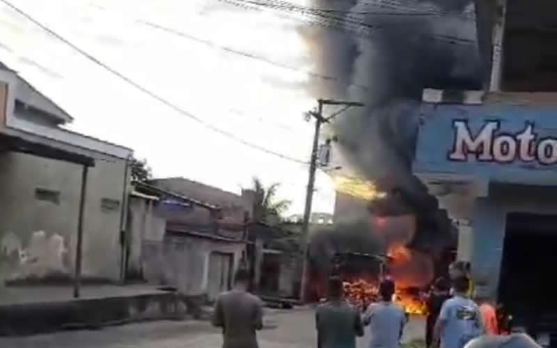
<path fill-rule="evenodd" d="M 79 52 L 79 54 L 81 54 L 82 56 L 85 56 L 88 60 L 93 61 L 93 63 L 99 65 L 101 68 L 104 68 L 104 70 L 107 70 L 108 72 L 110 72 L 111 74 L 116 75 L 117 77 L 119 77 L 120 79 L 122 79 L 123 81 L 127 82 L 127 84 L 130 84 L 132 86 L 134 86 L 134 88 L 140 90 L 141 92 L 145 93 L 146 95 L 152 97 L 153 99 L 157 100 L 158 102 L 161 102 L 162 104 L 168 106 L 170 109 L 173 109 L 174 111 L 177 111 L 178 113 L 181 113 L 182 115 L 186 116 L 187 118 L 191 118 L 191 120 L 194 120 L 198 123 L 200 123 L 201 125 L 204 125 L 205 127 L 211 129 L 214 132 L 217 132 L 219 134 L 222 134 L 223 136 L 227 136 L 230 139 L 233 139 L 239 143 L 242 143 L 243 145 L 246 145 L 250 148 L 254 148 L 256 150 L 262 151 L 262 152 L 266 152 L 269 155 L 274 155 L 276 157 L 280 157 L 282 159 L 288 159 L 289 161 L 294 161 L 297 162 L 299 164 L 308 164 L 307 161 L 301 161 L 300 159 L 295 159 L 293 157 L 289 157 L 287 155 L 283 155 L 279 152 L 275 152 L 273 150 L 269 150 L 267 148 L 263 148 L 260 145 L 254 144 L 254 143 L 250 143 L 249 141 L 244 141 L 244 139 L 241 139 L 239 136 L 236 136 L 233 133 L 227 132 L 223 129 L 219 129 L 217 127 L 214 127 L 214 125 L 211 125 L 208 122 L 205 122 L 203 119 L 199 118 L 198 116 L 194 115 L 193 113 L 189 113 L 188 111 L 185 111 L 184 109 L 180 108 L 180 106 L 177 106 L 175 104 L 173 104 L 172 102 L 168 102 L 167 100 L 165 100 L 163 97 L 160 97 L 159 95 L 153 93 L 152 91 L 148 90 L 147 88 L 141 86 L 140 84 L 137 84 L 135 81 L 133 81 L 132 79 L 130 79 L 129 77 L 126 77 L 124 74 L 121 74 L 120 72 L 118 72 L 117 70 L 114 70 L 113 68 L 111 68 L 109 65 L 102 63 L 102 61 L 99 61 L 97 58 L 95 58 L 94 56 L 92 56 L 91 54 L 88 54 L 87 52 L 85 52 L 83 49 L 79 48 L 77 45 L 74 45 L 72 42 L 70 42 L 69 40 L 63 38 L 63 36 L 61 36 L 60 34 L 56 33 L 55 31 L 53 31 L 52 29 L 49 29 L 47 26 L 45 26 L 44 24 L 38 22 L 37 19 L 34 19 L 31 15 L 27 14 L 24 10 L 21 10 L 20 8 L 18 8 L 17 6 L 13 5 L 13 3 L 10 3 L 7 0 L 0 0 L 2 3 L 6 4 L 6 6 L 12 8 L 13 10 L 15 10 L 17 13 L 19 13 L 20 15 L 26 17 L 27 19 L 29 19 L 29 21 L 33 22 L 33 24 L 36 24 L 37 26 L 39 26 L 42 30 L 46 31 L 47 33 L 49 33 L 50 35 L 54 36 L 55 38 L 57 38 L 58 40 L 61 40 L 63 43 L 65 43 L 65 45 L 68 45 L 69 47 L 71 47 L 72 49 L 74 49 L 74 51 Z"/>

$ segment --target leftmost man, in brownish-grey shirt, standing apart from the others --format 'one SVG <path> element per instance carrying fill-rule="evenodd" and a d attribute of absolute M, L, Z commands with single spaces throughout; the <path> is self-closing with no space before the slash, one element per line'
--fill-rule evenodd
<path fill-rule="evenodd" d="M 217 297 L 212 324 L 222 328 L 223 348 L 258 348 L 256 331 L 263 327 L 263 306 L 247 292 L 249 281 L 249 271 L 239 269 L 233 290 Z"/>

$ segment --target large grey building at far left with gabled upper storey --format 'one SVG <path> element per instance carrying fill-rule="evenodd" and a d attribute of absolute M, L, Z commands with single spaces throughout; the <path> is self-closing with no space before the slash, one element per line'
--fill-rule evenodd
<path fill-rule="evenodd" d="M 0 63 L 0 287 L 121 278 L 132 150 L 70 132 L 71 121 Z"/>

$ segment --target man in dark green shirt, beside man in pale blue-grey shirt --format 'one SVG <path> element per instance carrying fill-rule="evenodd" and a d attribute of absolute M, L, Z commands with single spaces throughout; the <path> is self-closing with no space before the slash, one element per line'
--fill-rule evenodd
<path fill-rule="evenodd" d="M 317 348 L 356 348 L 356 336 L 363 336 L 360 313 L 343 300 L 343 283 L 329 278 L 329 299 L 317 306 L 315 328 Z"/>

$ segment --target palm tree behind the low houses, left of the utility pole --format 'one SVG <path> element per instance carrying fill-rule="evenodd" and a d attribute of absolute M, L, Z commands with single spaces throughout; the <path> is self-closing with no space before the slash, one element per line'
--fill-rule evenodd
<path fill-rule="evenodd" d="M 276 190 L 281 184 L 275 182 L 267 189 L 263 187 L 261 180 L 253 178 L 253 221 L 269 222 L 270 216 L 281 216 L 290 204 L 290 200 L 275 200 Z"/>

